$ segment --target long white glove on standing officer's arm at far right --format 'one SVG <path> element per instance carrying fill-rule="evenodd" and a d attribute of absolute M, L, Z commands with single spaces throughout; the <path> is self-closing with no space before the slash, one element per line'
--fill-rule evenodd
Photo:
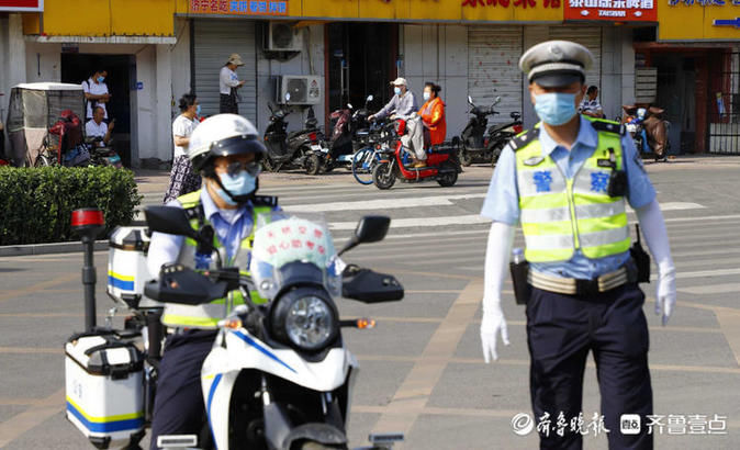
<path fill-rule="evenodd" d="M 655 314 L 662 315 L 663 325 L 675 307 L 675 267 L 671 258 L 671 247 L 668 241 L 668 232 L 663 213 L 657 200 L 636 210 L 637 218 L 642 227 L 644 240 L 658 265 L 658 288 L 655 291 Z"/>

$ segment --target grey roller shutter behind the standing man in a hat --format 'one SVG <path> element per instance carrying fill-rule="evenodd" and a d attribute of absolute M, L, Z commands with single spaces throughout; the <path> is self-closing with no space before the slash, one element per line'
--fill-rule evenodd
<path fill-rule="evenodd" d="M 239 114 L 257 123 L 257 70 L 255 67 L 255 22 L 246 20 L 195 20 L 193 61 L 195 94 L 203 114 L 218 114 L 218 71 L 232 53 L 244 66 L 236 69 L 239 80 Z"/>

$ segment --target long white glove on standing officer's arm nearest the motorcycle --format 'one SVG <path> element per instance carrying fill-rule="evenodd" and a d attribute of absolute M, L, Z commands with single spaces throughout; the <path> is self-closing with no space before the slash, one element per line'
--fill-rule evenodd
<path fill-rule="evenodd" d="M 501 340 L 508 346 L 508 328 L 506 318 L 501 310 L 501 288 L 504 282 L 508 258 L 514 244 L 514 227 L 494 222 L 489 233 L 489 244 L 485 251 L 485 272 L 483 285 L 483 320 L 481 322 L 481 346 L 483 359 L 487 364 L 498 359 L 496 341 L 501 333 Z"/>

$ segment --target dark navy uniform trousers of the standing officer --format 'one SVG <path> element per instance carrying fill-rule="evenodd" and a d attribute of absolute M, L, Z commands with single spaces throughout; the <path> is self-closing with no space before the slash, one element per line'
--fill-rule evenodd
<path fill-rule="evenodd" d="M 644 294 L 626 284 L 592 296 L 561 295 L 532 288 L 527 303 L 527 341 L 530 355 L 530 395 L 535 424 L 549 414 L 549 434 L 540 430 L 541 449 L 581 449 L 583 435 L 571 432 L 582 413 L 583 372 L 593 351 L 602 396 L 602 410 L 610 449 L 652 449 L 646 415 L 652 414 L 648 370 L 648 324 Z M 558 415 L 568 426 L 557 432 Z M 583 432 L 596 412 L 583 412 Z M 623 435 L 623 414 L 642 416 L 639 435 Z M 561 427 L 562 428 L 562 427 Z M 604 431 L 602 431 L 603 434 Z M 549 436 L 547 436 L 549 435 Z"/>

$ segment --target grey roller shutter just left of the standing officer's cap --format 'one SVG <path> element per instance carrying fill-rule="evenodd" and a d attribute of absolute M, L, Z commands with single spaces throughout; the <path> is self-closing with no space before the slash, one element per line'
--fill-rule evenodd
<path fill-rule="evenodd" d="M 468 27 L 468 94 L 480 106 L 495 106 L 500 112 L 489 123 L 511 121 L 512 111 L 522 112 L 523 27 L 484 25 Z"/>

